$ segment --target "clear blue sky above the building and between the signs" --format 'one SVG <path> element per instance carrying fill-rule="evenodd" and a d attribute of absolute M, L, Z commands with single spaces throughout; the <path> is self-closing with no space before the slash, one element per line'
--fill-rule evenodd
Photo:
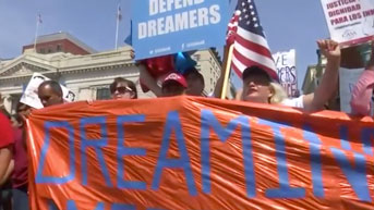
<path fill-rule="evenodd" d="M 33 42 L 38 12 L 43 18 L 39 34 L 69 32 L 98 51 L 113 49 L 117 5 L 120 3 L 122 8 L 123 20 L 120 23 L 119 37 L 123 40 L 130 30 L 130 1 L 0 0 L 0 58 L 17 57 L 22 46 Z M 232 0 L 231 9 L 236 2 L 237 0 Z M 297 50 L 301 88 L 306 66 L 317 62 L 315 41 L 329 36 L 321 1 L 255 2 L 272 51 Z"/>

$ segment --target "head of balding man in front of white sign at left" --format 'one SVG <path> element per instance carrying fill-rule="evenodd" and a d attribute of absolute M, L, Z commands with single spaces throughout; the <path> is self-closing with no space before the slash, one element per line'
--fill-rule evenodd
<path fill-rule="evenodd" d="M 46 107 L 63 103 L 62 88 L 56 81 L 45 81 L 38 87 L 38 97 Z"/>

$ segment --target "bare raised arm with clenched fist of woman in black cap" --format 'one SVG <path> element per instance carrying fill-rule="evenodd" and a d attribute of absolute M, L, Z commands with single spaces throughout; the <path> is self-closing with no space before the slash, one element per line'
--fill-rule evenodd
<path fill-rule="evenodd" d="M 318 40 L 321 52 L 327 58 L 325 73 L 319 86 L 313 94 L 303 97 L 304 109 L 306 111 L 318 111 L 324 109 L 324 104 L 334 96 L 339 77 L 340 47 L 334 40 Z"/>

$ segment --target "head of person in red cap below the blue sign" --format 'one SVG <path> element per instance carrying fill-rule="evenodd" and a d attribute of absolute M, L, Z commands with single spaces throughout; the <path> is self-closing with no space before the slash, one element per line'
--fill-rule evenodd
<path fill-rule="evenodd" d="M 170 73 L 162 82 L 161 96 L 172 97 L 184 95 L 188 88 L 185 78 L 177 73 Z"/>

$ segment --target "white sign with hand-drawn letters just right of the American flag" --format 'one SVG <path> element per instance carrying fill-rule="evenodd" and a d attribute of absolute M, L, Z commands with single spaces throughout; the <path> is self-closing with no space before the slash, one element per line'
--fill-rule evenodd
<path fill-rule="evenodd" d="M 273 54 L 273 59 L 278 71 L 280 84 L 285 87 L 289 97 L 295 96 L 298 91 L 295 50 L 277 52 Z"/>

